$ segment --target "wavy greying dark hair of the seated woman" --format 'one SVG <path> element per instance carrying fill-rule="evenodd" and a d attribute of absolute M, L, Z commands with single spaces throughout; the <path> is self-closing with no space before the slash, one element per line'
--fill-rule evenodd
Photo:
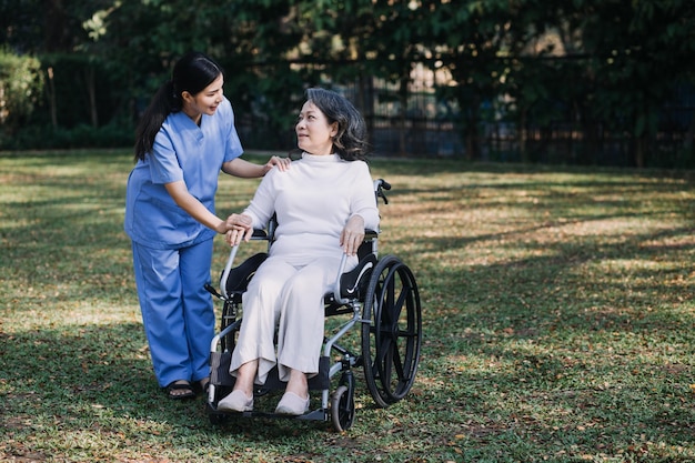
<path fill-rule="evenodd" d="M 333 151 L 345 161 L 366 161 L 366 123 L 360 111 L 346 98 L 330 90 L 306 90 L 311 101 L 323 112 L 329 123 L 338 122 L 338 134 L 333 138 Z"/>

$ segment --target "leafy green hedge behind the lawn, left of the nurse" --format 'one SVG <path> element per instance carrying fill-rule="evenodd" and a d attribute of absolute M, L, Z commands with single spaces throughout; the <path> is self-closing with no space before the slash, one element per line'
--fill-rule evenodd
<path fill-rule="evenodd" d="M 0 53 L 0 108 L 2 91 L 12 97 L 0 120 L 0 150 L 132 144 L 133 118 L 114 80 L 94 56 Z"/>

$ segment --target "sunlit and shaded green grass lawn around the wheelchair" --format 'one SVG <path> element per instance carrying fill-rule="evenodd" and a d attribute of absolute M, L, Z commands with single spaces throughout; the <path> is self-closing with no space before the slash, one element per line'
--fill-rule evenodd
<path fill-rule="evenodd" d="M 165 400 L 122 231 L 131 165 L 0 155 L 0 460 L 695 461 L 692 173 L 375 160 L 381 252 L 415 273 L 424 344 L 389 409 L 357 374 L 338 434 Z M 220 213 L 255 184 L 224 177 Z M 220 239 L 213 274 L 225 256 Z"/>

